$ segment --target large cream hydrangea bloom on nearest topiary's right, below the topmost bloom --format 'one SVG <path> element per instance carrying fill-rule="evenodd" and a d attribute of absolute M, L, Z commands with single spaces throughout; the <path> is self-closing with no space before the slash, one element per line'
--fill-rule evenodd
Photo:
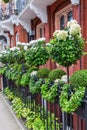
<path fill-rule="evenodd" d="M 75 35 L 80 35 L 81 34 L 81 27 L 79 24 L 73 24 L 71 25 L 69 29 L 70 35 L 75 36 Z"/>

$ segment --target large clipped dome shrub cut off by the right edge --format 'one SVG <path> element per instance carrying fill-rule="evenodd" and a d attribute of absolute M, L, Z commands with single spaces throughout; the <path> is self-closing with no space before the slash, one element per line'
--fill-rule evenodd
<path fill-rule="evenodd" d="M 76 71 L 70 78 L 70 83 L 74 86 L 87 87 L 87 70 Z"/>

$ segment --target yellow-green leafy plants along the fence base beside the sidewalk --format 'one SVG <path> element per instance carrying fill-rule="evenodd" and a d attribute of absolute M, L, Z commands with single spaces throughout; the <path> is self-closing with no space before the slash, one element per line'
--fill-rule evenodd
<path fill-rule="evenodd" d="M 7 92 L 6 96 L 10 95 L 10 89 L 6 88 L 5 91 Z M 58 123 L 58 118 L 55 117 L 53 113 L 47 112 L 44 109 L 43 118 L 40 116 L 40 106 L 36 106 L 36 110 L 33 111 L 32 109 L 29 109 L 21 100 L 21 98 L 14 96 L 12 99 L 12 108 L 15 111 L 18 118 L 25 119 L 25 124 L 28 127 L 28 129 L 33 130 L 45 130 L 47 121 L 48 121 L 48 130 L 50 128 L 54 130 L 54 120 L 56 122 L 56 130 L 60 130 L 62 127 L 61 124 Z M 31 103 L 31 102 L 30 102 Z M 31 103 L 32 105 L 32 103 Z M 34 104 L 33 104 L 34 105 Z M 50 118 L 51 116 L 51 118 Z M 51 126 L 50 126 L 51 123 Z"/>

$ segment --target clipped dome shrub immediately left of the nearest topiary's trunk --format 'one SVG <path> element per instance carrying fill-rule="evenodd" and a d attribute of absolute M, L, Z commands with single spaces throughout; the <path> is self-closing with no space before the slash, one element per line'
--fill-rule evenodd
<path fill-rule="evenodd" d="M 63 75 L 65 75 L 65 71 L 60 69 L 54 69 L 49 73 L 49 79 L 50 80 L 56 80 L 60 79 Z"/>

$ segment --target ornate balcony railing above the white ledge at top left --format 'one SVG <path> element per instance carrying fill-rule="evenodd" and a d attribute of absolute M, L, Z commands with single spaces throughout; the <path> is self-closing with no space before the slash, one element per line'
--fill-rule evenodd
<path fill-rule="evenodd" d="M 0 21 L 7 20 L 11 15 L 21 13 L 30 0 L 12 0 L 5 4 L 0 2 Z"/>

